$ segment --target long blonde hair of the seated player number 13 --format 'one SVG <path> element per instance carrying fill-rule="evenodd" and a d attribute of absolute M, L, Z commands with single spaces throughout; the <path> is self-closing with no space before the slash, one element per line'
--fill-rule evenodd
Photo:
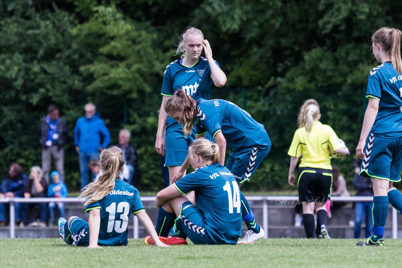
<path fill-rule="evenodd" d="M 85 206 L 104 198 L 115 188 L 115 180 L 120 177 L 124 165 L 123 153 L 116 146 L 103 149 L 99 158 L 103 174 L 96 182 L 88 184 L 79 196 L 85 198 Z"/>

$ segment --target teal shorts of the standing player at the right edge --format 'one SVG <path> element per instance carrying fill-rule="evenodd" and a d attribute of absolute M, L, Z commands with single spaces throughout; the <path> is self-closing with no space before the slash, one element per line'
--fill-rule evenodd
<path fill-rule="evenodd" d="M 360 175 L 398 182 L 401 180 L 402 137 L 387 139 L 370 133 L 364 147 Z"/>

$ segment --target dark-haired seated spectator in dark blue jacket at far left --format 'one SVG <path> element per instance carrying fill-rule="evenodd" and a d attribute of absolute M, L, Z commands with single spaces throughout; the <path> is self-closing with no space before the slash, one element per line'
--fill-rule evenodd
<path fill-rule="evenodd" d="M 16 163 L 11 164 L 10 169 L 8 170 L 8 176 L 3 180 L 0 187 L 2 197 L 23 197 L 26 183 L 27 176 L 23 173 L 21 166 Z M 8 207 L 8 204 L 0 203 L 0 226 L 6 225 L 6 208 Z M 20 203 L 14 203 L 15 221 L 17 223 L 21 221 L 20 208 Z"/>

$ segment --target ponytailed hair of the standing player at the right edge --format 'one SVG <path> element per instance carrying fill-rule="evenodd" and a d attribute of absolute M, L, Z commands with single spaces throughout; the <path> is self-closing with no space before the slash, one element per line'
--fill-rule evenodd
<path fill-rule="evenodd" d="M 381 50 L 390 55 L 392 66 L 398 74 L 401 74 L 401 31 L 395 28 L 383 27 L 373 33 L 371 41 L 379 43 Z"/>

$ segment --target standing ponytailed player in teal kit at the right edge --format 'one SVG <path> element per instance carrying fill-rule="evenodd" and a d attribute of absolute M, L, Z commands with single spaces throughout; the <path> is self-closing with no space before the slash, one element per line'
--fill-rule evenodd
<path fill-rule="evenodd" d="M 371 69 L 356 155 L 363 159 L 360 175 L 373 182 L 373 236 L 357 245 L 384 245 L 388 203 L 402 211 L 402 194 L 392 185 L 402 168 L 401 31 L 381 28 L 371 36 L 373 54 L 381 65 Z"/>

